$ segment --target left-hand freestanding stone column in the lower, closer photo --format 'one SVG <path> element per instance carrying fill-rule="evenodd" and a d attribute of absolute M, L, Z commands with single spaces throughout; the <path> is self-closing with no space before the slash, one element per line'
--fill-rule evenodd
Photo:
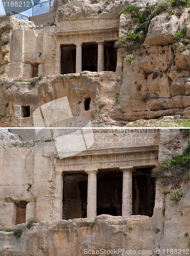
<path fill-rule="evenodd" d="M 97 173 L 98 170 L 85 170 L 88 174 L 87 218 L 97 216 Z"/>

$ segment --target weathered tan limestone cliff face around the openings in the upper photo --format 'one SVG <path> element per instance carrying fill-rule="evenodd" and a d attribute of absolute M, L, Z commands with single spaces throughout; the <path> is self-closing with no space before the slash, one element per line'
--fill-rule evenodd
<path fill-rule="evenodd" d="M 118 16 L 127 4 L 143 8 L 146 3 L 75 1 L 74 5 L 57 1 L 54 26 L 44 27 L 1 16 L 1 126 L 31 126 L 33 111 L 39 105 L 63 95 L 69 98 L 77 115 L 81 114 L 78 109 L 83 109 L 84 96 L 91 96 L 88 114 L 94 124 L 101 126 L 166 115 L 189 116 L 190 50 L 179 50 L 173 44 L 179 29 L 186 27 L 186 34 L 190 33 L 189 8 L 181 10 L 180 15 L 169 17 L 162 13 L 154 17 L 144 44 L 132 51 L 132 62 L 126 61 L 127 52 L 118 49 L 115 72 L 59 75 L 63 42 L 74 44 L 77 38 L 86 42 L 89 39 L 85 38 L 95 36 L 93 33 L 98 36 L 94 40 L 116 40 L 134 31 L 136 23 L 130 15 Z M 151 1 L 151 5 L 155 6 L 155 2 Z M 26 83 L 26 79 L 37 75 L 46 78 L 34 79 L 32 85 Z M 18 78 L 23 82 L 15 82 Z M 69 90 L 65 90 L 65 84 L 69 84 Z M 22 118 L 22 105 L 31 106 L 30 118 Z"/>

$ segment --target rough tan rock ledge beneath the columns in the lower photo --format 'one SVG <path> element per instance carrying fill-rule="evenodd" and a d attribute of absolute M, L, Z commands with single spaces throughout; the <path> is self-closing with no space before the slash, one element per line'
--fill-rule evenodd
<path fill-rule="evenodd" d="M 23 230 L 16 238 L 13 232 L 0 231 L 0 253 L 2 255 L 122 255 L 118 249 L 133 254 L 150 256 L 155 250 L 160 256 L 167 249 L 188 252 L 189 193 L 188 185 L 182 184 L 184 197 L 179 202 L 169 199 L 170 186 L 157 183 L 156 203 L 152 218 L 147 216 L 114 217 L 100 215 L 96 219 L 73 219 L 58 222 L 34 223 L 29 229 L 26 224 L 13 227 Z M 173 234 L 171 236 L 171 233 Z M 27 248 L 27 251 L 26 251 Z M 96 252 L 97 250 L 97 252 Z M 98 252 L 99 250 L 99 252 Z M 109 251 L 109 252 L 108 252 Z M 113 253 L 112 253 L 113 254 Z M 172 253 L 168 253 L 172 254 Z"/>

